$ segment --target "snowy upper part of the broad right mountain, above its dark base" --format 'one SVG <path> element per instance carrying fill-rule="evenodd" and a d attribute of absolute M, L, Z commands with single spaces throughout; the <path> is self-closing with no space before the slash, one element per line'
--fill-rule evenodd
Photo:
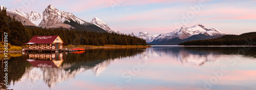
<path fill-rule="evenodd" d="M 207 37 L 216 37 L 216 36 L 223 36 L 221 31 L 217 28 L 205 28 L 202 24 L 197 23 L 194 26 L 185 26 L 183 25 L 181 28 L 176 29 L 176 31 L 167 33 L 167 34 L 160 34 L 155 38 L 153 43 L 159 44 L 159 43 L 164 43 L 168 40 L 172 40 L 174 38 L 179 38 L 180 40 L 185 40 L 190 38 L 191 36 L 194 35 L 204 35 Z"/>

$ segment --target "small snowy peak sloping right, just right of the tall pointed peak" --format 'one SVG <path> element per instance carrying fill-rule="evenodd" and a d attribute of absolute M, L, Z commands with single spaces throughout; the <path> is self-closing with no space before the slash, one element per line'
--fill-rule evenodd
<path fill-rule="evenodd" d="M 104 21 L 100 20 L 100 19 L 97 18 L 97 17 L 94 17 L 94 18 L 92 19 L 91 23 L 93 23 L 93 24 L 99 26 L 100 28 L 104 29 L 106 32 L 120 34 L 119 31 L 113 31 L 113 30 L 108 26 L 108 24 L 106 24 Z"/>

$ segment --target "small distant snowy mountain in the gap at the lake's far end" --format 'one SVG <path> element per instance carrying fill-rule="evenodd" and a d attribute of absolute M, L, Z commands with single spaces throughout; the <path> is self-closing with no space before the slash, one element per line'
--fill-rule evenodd
<path fill-rule="evenodd" d="M 135 36 L 134 33 L 129 33 L 128 35 Z M 150 35 L 148 32 L 142 33 L 140 32 L 137 37 L 146 40 L 147 43 L 151 43 L 158 35 Z"/>

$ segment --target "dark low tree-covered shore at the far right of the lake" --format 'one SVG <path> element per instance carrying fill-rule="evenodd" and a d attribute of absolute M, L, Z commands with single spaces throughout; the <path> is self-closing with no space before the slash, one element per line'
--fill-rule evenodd
<path fill-rule="evenodd" d="M 241 35 L 224 35 L 213 39 L 195 40 L 180 43 L 185 46 L 217 46 L 217 45 L 256 45 L 256 32 Z"/>

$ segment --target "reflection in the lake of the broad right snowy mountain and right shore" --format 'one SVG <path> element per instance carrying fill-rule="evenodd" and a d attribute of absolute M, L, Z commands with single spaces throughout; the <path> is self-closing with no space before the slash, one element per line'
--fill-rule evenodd
<path fill-rule="evenodd" d="M 248 47 L 247 47 L 248 48 Z M 151 56 L 170 56 L 182 65 L 202 66 L 205 62 L 215 62 L 223 54 L 225 55 L 244 55 L 246 57 L 256 57 L 256 47 L 249 47 L 245 53 L 239 50 L 244 47 L 152 47 L 147 48 L 140 58 L 147 59 Z"/>

